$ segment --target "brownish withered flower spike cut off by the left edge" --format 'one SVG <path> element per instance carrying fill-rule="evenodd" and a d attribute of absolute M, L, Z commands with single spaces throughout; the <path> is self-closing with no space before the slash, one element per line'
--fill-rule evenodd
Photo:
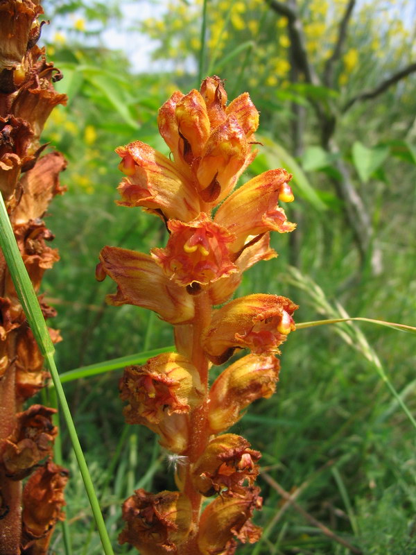
<path fill-rule="evenodd" d="M 65 103 L 53 82 L 60 71 L 37 46 L 43 12 L 38 1 L 4 0 L 0 5 L 0 192 L 21 257 L 39 291 L 42 276 L 59 259 L 49 246 L 53 234 L 42 218 L 64 189 L 66 167 L 58 152 L 42 155 L 44 123 L 55 105 Z M 45 318 L 55 315 L 42 296 Z M 60 341 L 57 330 L 51 339 Z M 63 519 L 67 471 L 51 462 L 57 429 L 54 409 L 23 404 L 46 384 L 49 374 L 28 327 L 0 251 L 0 553 L 46 554 L 51 534 Z M 28 477 L 24 488 L 22 479 Z"/>

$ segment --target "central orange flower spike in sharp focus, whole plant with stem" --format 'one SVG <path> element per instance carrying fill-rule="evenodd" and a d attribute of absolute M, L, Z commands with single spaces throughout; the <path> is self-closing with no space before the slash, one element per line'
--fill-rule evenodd
<path fill-rule="evenodd" d="M 246 269 L 276 256 L 270 231 L 295 228 L 278 205 L 293 200 L 291 175 L 274 169 L 235 189 L 257 153 L 259 112 L 247 93 L 227 105 L 216 76 L 199 92 L 173 93 L 158 124 L 173 160 L 140 141 L 117 148 L 118 203 L 162 218 L 168 242 L 150 255 L 104 247 L 97 278 L 116 282 L 110 304 L 145 307 L 174 327 L 176 352 L 125 368 L 120 394 L 125 420 L 152 429 L 173 454 L 177 491 L 136 490 L 123 504 L 119 541 L 143 555 L 230 555 L 236 540 L 254 543 L 261 533 L 250 520 L 261 508 L 261 454 L 225 432 L 275 391 L 275 355 L 297 309 L 265 293 L 230 299 Z M 211 366 L 241 349 L 250 353 L 210 386 Z"/>

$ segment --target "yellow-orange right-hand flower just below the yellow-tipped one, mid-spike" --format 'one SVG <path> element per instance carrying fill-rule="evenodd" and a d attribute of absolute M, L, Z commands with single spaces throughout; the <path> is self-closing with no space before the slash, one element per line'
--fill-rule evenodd
<path fill-rule="evenodd" d="M 271 397 L 275 393 L 279 370 L 279 359 L 259 355 L 247 355 L 225 368 L 209 391 L 211 433 L 225 432 L 240 420 L 241 411 L 250 403 Z"/>

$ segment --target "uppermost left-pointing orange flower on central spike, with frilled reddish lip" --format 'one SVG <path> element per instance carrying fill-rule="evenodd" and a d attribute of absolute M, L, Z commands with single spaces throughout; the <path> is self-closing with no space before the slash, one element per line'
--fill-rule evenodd
<path fill-rule="evenodd" d="M 141 206 L 158 216 L 188 221 L 200 212 L 193 185 L 176 164 L 141 141 L 119 146 L 119 168 L 128 177 L 119 187 L 121 206 Z"/>

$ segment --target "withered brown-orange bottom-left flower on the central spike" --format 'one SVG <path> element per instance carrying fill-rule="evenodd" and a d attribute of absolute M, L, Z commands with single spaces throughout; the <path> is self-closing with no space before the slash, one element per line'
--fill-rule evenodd
<path fill-rule="evenodd" d="M 191 504 L 177 491 L 148 493 L 138 489 L 123 503 L 125 529 L 119 543 L 130 543 L 142 555 L 175 554 L 191 528 Z"/>

